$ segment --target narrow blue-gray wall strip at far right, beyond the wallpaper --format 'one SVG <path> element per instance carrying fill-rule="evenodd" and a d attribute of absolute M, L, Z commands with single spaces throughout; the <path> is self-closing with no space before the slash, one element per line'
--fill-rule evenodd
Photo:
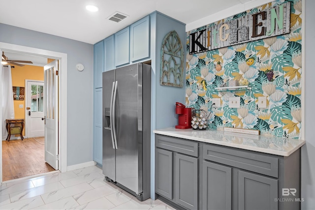
<path fill-rule="evenodd" d="M 302 147 L 302 210 L 315 210 L 315 0 L 305 0 L 305 140 Z"/>

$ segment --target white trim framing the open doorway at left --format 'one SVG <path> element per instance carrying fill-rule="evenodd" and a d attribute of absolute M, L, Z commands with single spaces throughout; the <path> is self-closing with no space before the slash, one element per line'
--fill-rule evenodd
<path fill-rule="evenodd" d="M 33 54 L 42 56 L 45 58 L 51 58 L 60 60 L 60 73 L 59 73 L 59 171 L 66 172 L 67 171 L 67 118 L 62 118 L 61 116 L 67 116 L 67 54 L 54 52 L 39 48 L 26 47 L 22 45 L 15 45 L 0 42 L 0 54 L 2 51 L 16 51 L 25 54 Z M 2 69 L 2 65 L 1 65 Z M 0 74 L 1 80 L 2 74 Z M 2 93 L 0 91 L 0 98 L 2 97 Z M 0 119 L 2 117 L 2 113 L 0 112 Z M 0 126 L 2 125 L 2 121 L 0 120 Z M 2 137 L 2 130 L 0 129 L 0 136 Z M 2 138 L 1 138 L 2 140 Z M 0 183 L 2 183 L 2 144 L 0 144 Z"/>

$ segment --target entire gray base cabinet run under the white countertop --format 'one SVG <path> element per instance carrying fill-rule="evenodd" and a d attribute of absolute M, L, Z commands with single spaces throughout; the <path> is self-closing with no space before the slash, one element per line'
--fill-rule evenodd
<path fill-rule="evenodd" d="M 300 155 L 300 149 L 286 157 L 156 134 L 155 192 L 180 209 L 299 210 Z"/>

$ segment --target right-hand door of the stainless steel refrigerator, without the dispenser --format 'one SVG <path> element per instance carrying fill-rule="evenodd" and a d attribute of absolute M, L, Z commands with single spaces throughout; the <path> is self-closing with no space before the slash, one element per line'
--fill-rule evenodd
<path fill-rule="evenodd" d="M 142 150 L 139 150 L 142 128 L 138 127 L 142 125 L 142 117 L 139 119 L 142 71 L 139 68 L 142 64 L 137 63 L 116 69 L 116 181 L 137 194 L 142 193 Z"/>

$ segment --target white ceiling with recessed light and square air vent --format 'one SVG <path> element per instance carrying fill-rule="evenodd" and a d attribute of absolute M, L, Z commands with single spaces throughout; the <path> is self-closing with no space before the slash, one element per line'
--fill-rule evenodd
<path fill-rule="evenodd" d="M 0 23 L 95 44 L 156 10 L 190 24 L 249 1 L 251 0 L 0 0 Z M 87 11 L 85 6 L 88 4 L 96 5 L 99 10 Z M 128 17 L 119 23 L 107 20 L 115 12 Z M 6 56 L 10 60 L 28 60 L 10 52 Z"/>

